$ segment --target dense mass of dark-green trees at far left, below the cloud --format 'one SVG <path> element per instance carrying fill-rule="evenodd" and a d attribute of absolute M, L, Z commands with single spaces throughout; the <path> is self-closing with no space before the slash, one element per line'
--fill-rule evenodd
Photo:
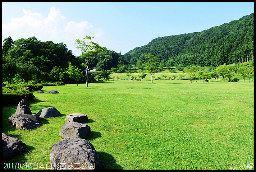
<path fill-rule="evenodd" d="M 14 75 L 19 73 L 20 78 L 26 82 L 51 79 L 64 79 L 67 82 L 68 77 L 60 73 L 59 69 L 63 72 L 63 69 L 68 67 L 68 62 L 82 69 L 81 58 L 72 55 L 71 50 L 63 43 L 41 42 L 36 37 L 21 38 L 13 43 L 8 41 L 10 39 L 6 38 L 3 45 L 3 49 L 6 49 L 3 52 L 3 81 L 11 83 Z"/>

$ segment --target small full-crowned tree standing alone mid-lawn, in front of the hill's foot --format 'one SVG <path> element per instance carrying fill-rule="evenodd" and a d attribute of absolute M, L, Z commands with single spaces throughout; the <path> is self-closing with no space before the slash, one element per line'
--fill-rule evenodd
<path fill-rule="evenodd" d="M 151 53 L 145 55 L 147 59 L 145 69 L 151 74 L 151 83 L 153 83 L 153 75 L 160 70 L 159 68 L 159 59 L 156 56 L 151 55 Z"/>

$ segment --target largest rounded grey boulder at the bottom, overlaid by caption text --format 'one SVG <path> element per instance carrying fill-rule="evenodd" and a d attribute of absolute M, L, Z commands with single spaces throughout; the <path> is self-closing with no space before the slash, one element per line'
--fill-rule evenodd
<path fill-rule="evenodd" d="M 93 145 L 85 139 L 74 137 L 62 139 L 52 145 L 50 163 L 52 165 L 76 163 L 74 169 L 90 169 L 89 163 L 94 163 L 94 169 L 103 169 L 104 167 L 104 163 Z M 60 166 L 57 166 L 58 168 L 60 169 Z M 66 166 L 67 168 L 68 166 Z"/>

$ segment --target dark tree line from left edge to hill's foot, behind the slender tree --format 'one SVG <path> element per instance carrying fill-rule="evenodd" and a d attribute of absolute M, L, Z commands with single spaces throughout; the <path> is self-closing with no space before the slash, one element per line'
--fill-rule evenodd
<path fill-rule="evenodd" d="M 124 60 L 121 52 L 108 50 L 93 54 L 93 58 L 88 69 L 97 67 L 97 71 L 108 71 L 109 75 L 111 71 L 116 73 L 131 71 L 129 63 Z M 9 36 L 4 39 L 2 46 L 3 81 L 10 84 L 17 76 L 24 82 L 32 80 L 38 83 L 49 81 L 77 83 L 78 80 L 86 82 L 86 71 L 82 64 L 86 64 L 85 59 L 82 56 L 74 56 L 64 43 L 42 42 L 36 37 L 13 41 Z M 72 74 L 74 70 L 77 72 L 79 70 L 79 74 L 76 73 L 79 76 L 82 73 L 80 79 L 74 77 Z M 101 76 L 106 78 L 102 72 Z M 88 74 L 88 78 L 94 80 L 94 75 Z"/>

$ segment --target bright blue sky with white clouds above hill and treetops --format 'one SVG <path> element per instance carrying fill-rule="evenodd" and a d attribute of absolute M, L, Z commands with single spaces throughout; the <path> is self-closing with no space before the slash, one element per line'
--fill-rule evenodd
<path fill-rule="evenodd" d="M 241 3 L 51 3 L 2 2 L 2 43 L 35 36 L 63 42 L 75 56 L 74 43 L 86 35 L 100 46 L 121 51 L 152 39 L 201 32 L 254 13 L 254 2 Z"/>

